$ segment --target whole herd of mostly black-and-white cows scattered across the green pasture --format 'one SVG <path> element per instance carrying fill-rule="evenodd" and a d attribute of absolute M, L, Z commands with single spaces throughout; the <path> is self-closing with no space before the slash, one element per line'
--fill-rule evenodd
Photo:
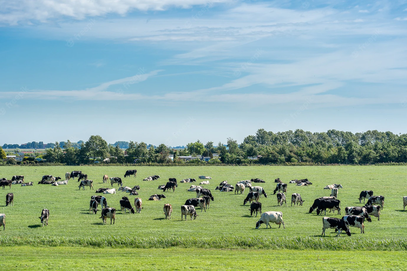
<path fill-rule="evenodd" d="M 124 177 L 129 177 L 133 175 L 136 177 L 137 170 L 132 169 L 132 170 L 127 170 Z M 77 178 L 77 182 L 79 183 L 79 190 L 85 189 L 85 186 L 89 186 L 89 189 L 93 189 L 93 180 L 88 180 L 88 175 L 82 173 L 82 171 L 72 171 L 71 173 L 67 172 L 65 174 L 65 180 L 60 181 L 60 177 L 54 177 L 52 175 L 44 175 L 42 177 L 42 180 L 38 182 L 38 184 L 51 184 L 53 186 L 58 186 L 58 185 L 64 185 L 68 184 L 68 181 L 70 179 L 75 180 Z M 158 180 L 160 176 L 154 175 L 154 176 L 149 176 L 147 178 L 144 178 L 144 181 L 152 181 L 152 180 Z M 204 179 L 204 180 L 210 180 L 212 178 L 208 176 L 199 176 L 199 179 Z M 118 184 L 118 191 L 122 192 L 127 192 L 129 195 L 138 195 L 138 192 L 140 190 L 140 186 L 136 185 L 133 188 L 130 188 L 128 186 L 123 186 L 123 181 L 120 177 L 112 177 L 109 178 L 109 176 L 104 175 L 103 178 L 103 183 L 107 183 L 110 180 L 111 187 L 106 187 L 106 188 L 99 188 L 95 191 L 95 193 L 103 193 L 104 195 L 106 194 L 116 194 L 116 189 L 112 188 L 114 184 Z M 194 178 L 187 178 L 183 179 L 180 181 L 181 183 L 192 183 L 196 182 L 196 179 Z M 267 193 L 265 192 L 265 189 L 261 186 L 253 186 L 252 183 L 264 183 L 265 181 L 262 179 L 254 178 L 251 180 L 243 180 L 240 182 L 237 182 L 235 186 L 228 184 L 227 181 L 223 181 L 219 184 L 219 186 L 216 187 L 215 190 L 219 190 L 221 192 L 232 192 L 234 191 L 235 194 L 243 194 L 246 189 L 249 189 L 249 193 L 243 200 L 243 206 L 246 205 L 246 203 L 250 204 L 250 215 L 253 216 L 254 213 L 256 213 L 256 217 L 258 215 L 258 212 L 260 212 L 260 219 L 256 223 L 256 229 L 260 227 L 261 224 L 266 224 L 266 228 L 270 227 L 271 225 L 269 223 L 276 223 L 278 228 L 280 228 L 281 224 L 283 225 L 283 228 L 285 228 L 284 221 L 282 219 L 282 212 L 276 212 L 276 211 L 268 211 L 268 212 L 263 212 L 262 213 L 262 204 L 259 202 L 260 198 L 262 196 L 267 198 Z M 274 195 L 277 193 L 277 203 L 278 206 L 282 206 L 283 204 L 287 205 L 286 201 L 286 194 L 287 194 L 287 184 L 283 183 L 279 178 L 275 180 L 276 184 L 276 189 L 274 189 Z M 308 186 L 312 185 L 311 182 L 309 182 L 308 179 L 302 179 L 302 180 L 291 180 L 289 182 L 290 184 L 296 184 L 296 186 Z M 11 189 L 11 186 L 13 184 L 21 184 L 21 186 L 32 186 L 33 182 L 25 183 L 24 182 L 24 176 L 13 176 L 11 180 L 7 180 L 6 178 L 1 178 L 0 179 L 0 186 L 5 189 L 6 186 L 9 186 Z M 204 184 L 209 184 L 209 181 L 202 181 L 199 184 L 204 185 Z M 190 216 L 190 219 L 196 219 L 198 217 L 197 211 L 195 208 L 199 207 L 202 210 L 206 212 L 206 209 L 209 208 L 210 202 L 214 201 L 214 197 L 209 189 L 203 188 L 201 185 L 191 185 L 187 191 L 189 192 L 196 192 L 197 197 L 196 198 L 190 198 L 187 199 L 185 204 L 181 206 L 181 220 L 185 218 L 187 215 Z M 175 189 L 178 187 L 177 184 L 177 179 L 176 178 L 169 178 L 168 182 L 166 184 L 162 184 L 158 186 L 158 189 L 165 191 L 173 191 L 175 192 Z M 330 189 L 331 194 L 329 197 L 319 197 L 314 200 L 312 206 L 309 209 L 309 213 L 312 213 L 314 210 L 316 210 L 317 215 L 322 213 L 324 211 L 324 215 L 326 215 L 326 209 L 329 209 L 329 212 L 335 213 L 337 211 L 338 215 L 341 214 L 341 208 L 340 204 L 341 201 L 337 199 L 338 197 L 338 190 L 342 189 L 341 184 L 330 184 L 324 187 L 324 189 Z M 153 200 L 153 201 L 158 201 L 162 200 L 163 198 L 166 198 L 164 194 L 154 194 L 151 195 L 148 200 Z M 378 220 L 380 220 L 380 212 L 383 209 L 384 205 L 384 196 L 379 195 L 379 196 L 374 196 L 373 191 L 361 191 L 359 195 L 359 203 L 361 203 L 363 199 L 363 204 L 365 204 L 365 200 L 367 199 L 367 203 L 364 206 L 351 206 L 351 207 L 346 207 L 345 208 L 345 216 L 342 217 L 341 219 L 339 218 L 331 218 L 331 217 L 323 217 L 322 221 L 322 235 L 325 235 L 325 230 L 327 228 L 330 229 L 335 229 L 337 231 L 337 236 L 340 236 L 341 231 L 346 232 L 348 236 L 350 236 L 350 230 L 349 227 L 355 227 L 355 228 L 360 228 L 361 233 L 364 233 L 364 221 L 367 220 L 368 222 L 372 222 L 372 219 L 370 216 L 377 217 Z M 6 195 L 6 206 L 14 206 L 14 195 L 13 193 L 7 193 Z M 302 199 L 301 195 L 299 193 L 293 193 L 291 195 L 291 206 L 295 205 L 300 205 L 302 206 L 305 200 Z M 140 213 L 141 210 L 143 209 L 142 207 L 142 199 L 140 197 L 136 197 L 134 199 L 134 208 L 131 205 L 130 199 L 127 196 L 123 196 L 122 199 L 119 201 L 120 204 L 120 210 L 123 213 L 126 213 L 129 211 L 129 213 Z M 89 206 L 89 212 L 92 212 L 93 214 L 96 214 L 98 211 L 98 206 L 102 207 L 101 210 L 101 219 L 103 220 L 103 223 L 106 223 L 107 219 L 110 219 L 110 223 L 114 224 L 115 218 L 116 218 L 116 209 L 107 206 L 107 199 L 105 196 L 98 196 L 94 195 L 90 199 L 90 206 Z M 404 210 L 405 207 L 407 206 L 407 197 L 403 197 L 403 206 Z M 173 208 L 171 204 L 164 204 L 164 215 L 165 219 L 171 219 L 171 212 L 173 211 Z M 48 218 L 50 215 L 50 211 L 48 209 L 43 209 L 41 212 L 41 216 L 39 219 L 41 220 L 42 226 L 48 225 Z M 0 226 L 3 226 L 3 230 L 5 230 L 5 214 L 0 214 Z"/>

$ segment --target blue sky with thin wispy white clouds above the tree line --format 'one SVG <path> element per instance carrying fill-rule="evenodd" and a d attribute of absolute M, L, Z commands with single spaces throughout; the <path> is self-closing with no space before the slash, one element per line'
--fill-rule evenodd
<path fill-rule="evenodd" d="M 0 0 L 0 145 L 406 133 L 407 0 Z"/>

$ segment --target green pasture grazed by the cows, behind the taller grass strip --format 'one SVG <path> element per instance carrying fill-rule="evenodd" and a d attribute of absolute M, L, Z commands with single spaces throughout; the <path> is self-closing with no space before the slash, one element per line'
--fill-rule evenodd
<path fill-rule="evenodd" d="M 21 238 L 52 238 L 53 236 L 68 238 L 97 238 L 101 236 L 115 236 L 116 238 L 195 238 L 199 246 L 200 238 L 223 238 L 227 236 L 233 240 L 239 238 L 306 238 L 321 239 L 322 216 L 315 212 L 308 214 L 313 200 L 321 196 L 329 196 L 330 190 L 324 190 L 327 184 L 342 184 L 344 189 L 339 190 L 338 199 L 341 200 L 341 215 L 330 214 L 330 217 L 342 217 L 346 206 L 362 206 L 359 204 L 359 193 L 362 190 L 373 190 L 374 195 L 385 196 L 384 210 L 381 220 L 372 217 L 373 222 L 365 222 L 365 234 L 360 234 L 357 228 L 351 228 L 352 236 L 335 238 L 334 230 L 326 230 L 327 236 L 322 238 L 323 243 L 347 243 L 387 241 L 391 238 L 404 238 L 407 240 L 407 212 L 403 212 L 403 199 L 407 195 L 405 181 L 407 180 L 407 167 L 403 166 L 321 166 L 321 167 L 134 167 L 138 170 L 137 178 L 123 178 L 125 167 L 0 167 L 0 177 L 11 179 L 13 175 L 24 175 L 25 182 L 34 182 L 34 186 L 21 187 L 13 185 L 11 189 L 0 189 L 2 204 L 0 213 L 6 214 L 6 230 L 0 231 L 3 243 L 12 245 L 14 237 Z M 50 186 L 37 184 L 43 175 L 61 176 L 66 172 L 82 170 L 88 178 L 94 180 L 94 189 L 110 186 L 103 184 L 102 176 L 118 176 L 123 179 L 125 186 L 133 187 L 139 184 L 141 190 L 138 197 L 143 200 L 141 214 L 116 214 L 114 225 L 103 225 L 97 215 L 89 214 L 89 201 L 91 195 L 97 195 L 94 190 L 78 190 L 77 180 L 70 180 L 68 185 Z M 143 181 L 150 175 L 160 175 L 155 181 Z M 194 221 L 181 221 L 180 206 L 186 199 L 196 197 L 196 193 L 187 192 L 190 184 L 179 184 L 175 192 L 165 192 L 166 199 L 162 201 L 147 201 L 150 195 L 161 193 L 158 185 L 165 184 L 168 178 L 197 178 L 199 175 L 211 176 L 209 188 L 214 195 L 207 212 L 198 209 L 199 217 Z M 288 184 L 286 207 L 278 207 L 276 195 L 273 190 L 276 186 L 274 179 L 279 177 L 284 182 L 296 178 L 308 178 L 313 185 L 295 186 Z M 249 206 L 243 206 L 245 195 L 234 195 L 234 192 L 225 193 L 215 191 L 221 181 L 227 180 L 230 184 L 251 178 L 262 178 L 266 181 L 263 186 L 268 197 L 262 197 L 263 212 L 281 210 L 286 229 L 277 229 L 273 224 L 272 229 L 261 226 L 255 229 L 259 217 L 250 217 Z M 196 184 L 198 184 L 197 181 Z M 116 184 L 117 189 L 117 184 Z M 5 207 L 4 198 L 9 192 L 14 193 L 14 206 Z M 304 206 L 290 206 L 291 194 L 300 193 L 305 200 Z M 120 209 L 119 199 L 128 196 L 131 203 L 134 197 L 129 193 L 117 192 L 116 195 L 105 195 L 107 204 Z M 171 220 L 165 220 L 163 206 L 170 203 L 173 206 Z M 39 216 L 43 208 L 50 210 L 48 227 L 40 227 Z M 328 213 L 327 213 L 328 215 Z M 11 238 L 8 241 L 4 238 Z M 11 240 L 11 241 L 10 241 Z M 33 240 L 33 239 L 32 239 Z M 102 238 L 102 240 L 105 240 Z M 227 241 L 226 240 L 226 241 Z M 236 238 L 237 240 L 237 238 Z M 295 239 L 291 239 L 295 240 Z M 30 241 L 31 242 L 31 241 Z M 244 242 L 243 242 L 244 243 Z M 69 244 L 68 244 L 69 245 Z M 184 246 L 189 246 L 188 244 Z M 244 247 L 245 245 L 241 245 Z M 306 248 L 306 246 L 304 246 Z M 327 247 L 329 249 L 329 247 Z M 335 247 L 330 247 L 335 249 Z M 366 249 L 375 249 L 373 246 Z M 391 249 L 405 249 L 405 243 Z"/>

